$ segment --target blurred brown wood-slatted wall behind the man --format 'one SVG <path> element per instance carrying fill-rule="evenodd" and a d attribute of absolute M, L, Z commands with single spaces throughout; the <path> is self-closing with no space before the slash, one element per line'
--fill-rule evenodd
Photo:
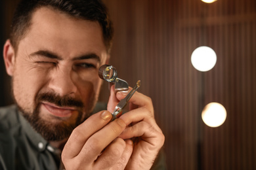
<path fill-rule="evenodd" d="M 141 80 L 139 92 L 152 98 L 168 169 L 256 169 L 256 1 L 104 2 L 115 27 L 110 64 L 130 86 Z M 0 2 L 1 46 L 16 3 Z M 199 46 L 215 51 L 217 62 L 209 71 L 191 63 Z M 3 58 L 0 63 L 3 106 L 12 99 Z M 108 95 L 104 83 L 100 101 Z M 218 127 L 202 120 L 212 102 L 226 110 Z"/>

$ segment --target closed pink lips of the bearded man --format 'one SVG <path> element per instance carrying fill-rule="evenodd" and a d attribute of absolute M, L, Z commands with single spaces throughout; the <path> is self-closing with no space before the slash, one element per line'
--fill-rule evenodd
<path fill-rule="evenodd" d="M 75 109 L 72 107 L 58 107 L 56 105 L 54 105 L 53 103 L 42 103 L 43 107 L 45 107 L 45 109 L 50 112 L 51 114 L 53 114 L 54 116 L 58 116 L 58 117 L 70 117 Z"/>

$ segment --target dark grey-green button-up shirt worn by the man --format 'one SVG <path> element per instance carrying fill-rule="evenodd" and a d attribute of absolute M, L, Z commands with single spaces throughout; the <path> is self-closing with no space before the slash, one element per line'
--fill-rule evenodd
<path fill-rule="evenodd" d="M 99 105 L 95 111 L 103 110 Z M 0 169 L 62 169 L 61 150 L 54 148 L 20 114 L 16 105 L 0 109 Z M 160 154 L 154 169 L 165 169 Z"/>

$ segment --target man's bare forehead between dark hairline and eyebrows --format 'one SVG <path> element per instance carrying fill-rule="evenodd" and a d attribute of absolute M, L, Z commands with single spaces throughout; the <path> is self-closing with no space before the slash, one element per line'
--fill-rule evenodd
<path fill-rule="evenodd" d="M 30 28 L 22 41 L 33 47 L 58 50 L 65 55 L 84 53 L 85 50 L 93 53 L 106 51 L 98 22 L 74 18 L 49 7 L 33 12 Z"/>

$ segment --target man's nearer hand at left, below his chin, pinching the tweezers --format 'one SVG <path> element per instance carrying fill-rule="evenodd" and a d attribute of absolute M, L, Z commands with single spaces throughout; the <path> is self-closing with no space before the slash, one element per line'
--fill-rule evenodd
<path fill-rule="evenodd" d="M 66 169 L 125 168 L 133 143 L 118 137 L 125 129 L 125 122 L 119 119 L 110 122 L 111 118 L 108 111 L 98 112 L 74 129 L 62 151 Z"/>

